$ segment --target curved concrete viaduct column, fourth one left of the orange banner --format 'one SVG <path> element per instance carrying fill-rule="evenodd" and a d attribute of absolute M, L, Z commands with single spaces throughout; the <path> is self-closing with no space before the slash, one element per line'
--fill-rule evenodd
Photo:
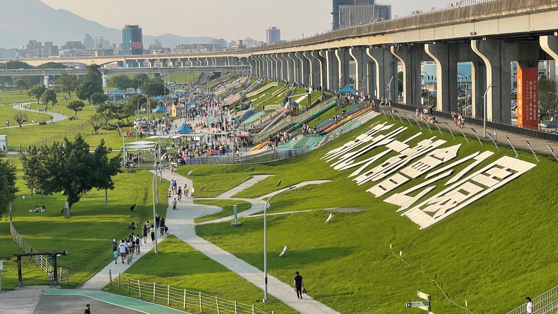
<path fill-rule="evenodd" d="M 367 48 L 366 54 L 374 63 L 373 79 L 370 94 L 377 99 L 397 99 L 397 63 L 395 56 L 386 48 Z M 369 73 L 371 71 L 369 70 Z M 393 80 L 392 80 L 393 78 Z M 388 91 L 389 81 L 392 80 Z M 393 82 L 395 81 L 395 83 Z M 391 93 L 390 93 L 391 91 Z"/>

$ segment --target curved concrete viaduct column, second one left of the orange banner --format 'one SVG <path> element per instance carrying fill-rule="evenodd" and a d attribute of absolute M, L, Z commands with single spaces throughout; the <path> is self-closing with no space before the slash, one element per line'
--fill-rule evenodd
<path fill-rule="evenodd" d="M 426 44 L 425 52 L 436 62 L 436 108 L 458 111 L 457 61 L 459 44 Z M 432 75 L 432 74 L 430 74 Z"/>

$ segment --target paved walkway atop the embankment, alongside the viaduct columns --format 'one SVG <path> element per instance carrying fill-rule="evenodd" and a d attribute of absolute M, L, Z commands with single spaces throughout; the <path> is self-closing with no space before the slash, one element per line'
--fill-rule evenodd
<path fill-rule="evenodd" d="M 407 122 L 405 119 L 405 116 L 402 115 L 402 113 L 405 113 L 407 115 L 407 117 L 409 118 L 409 120 L 411 121 L 411 124 L 413 126 L 417 126 L 415 121 L 413 120 L 412 116 L 416 116 L 416 112 L 414 111 L 408 111 L 408 110 L 403 110 L 401 108 L 396 108 L 393 107 L 393 110 L 397 110 L 398 113 L 400 113 L 401 119 L 404 122 Z M 391 120 L 391 116 L 387 115 L 389 117 L 389 120 Z M 394 113 L 395 116 L 395 113 Z M 397 119 L 397 116 L 395 116 L 395 118 Z M 440 127 L 440 130 L 442 131 L 447 131 L 448 127 L 445 125 L 445 123 L 448 123 L 450 130 L 453 132 L 454 136 L 463 136 L 461 135 L 461 131 L 459 131 L 459 129 L 453 129 L 453 122 L 449 119 L 446 118 L 442 118 L 442 117 L 436 117 L 436 120 L 438 121 L 437 125 Z M 465 118 L 465 121 L 467 119 Z M 422 124 L 422 129 L 423 132 L 426 131 L 428 132 L 428 129 L 426 129 L 426 127 L 424 126 L 424 124 Z M 438 129 L 436 127 L 435 124 L 430 123 L 430 129 L 432 130 L 432 132 L 438 132 Z M 471 129 L 475 129 L 475 131 L 477 131 L 477 135 L 479 137 L 483 137 L 483 126 L 478 126 L 478 125 L 472 125 L 469 124 L 467 122 L 465 122 L 465 127 L 463 128 L 463 132 L 468 135 L 473 137 L 473 139 L 475 139 L 476 141 L 476 137 L 475 134 L 473 132 L 473 130 Z M 514 133 L 509 133 L 506 131 L 502 131 L 502 130 L 496 130 L 496 129 L 490 129 L 489 127 L 487 127 L 487 132 L 489 134 L 492 134 L 493 131 L 496 131 L 496 140 L 497 142 L 501 142 L 504 145 L 509 146 L 508 140 L 506 139 L 505 136 L 509 137 L 509 140 L 512 142 L 513 146 L 515 146 L 516 148 L 521 148 L 521 149 L 526 149 L 529 150 L 529 146 L 527 146 L 527 141 L 529 141 L 529 143 L 531 144 L 531 147 L 533 148 L 533 150 L 535 151 L 540 151 L 543 154 L 550 154 L 550 150 L 546 145 L 550 145 L 553 149 L 558 149 L 558 144 L 556 144 L 555 142 L 550 142 L 550 141 L 545 141 L 545 140 L 540 140 L 540 139 L 534 139 L 533 137 L 527 137 L 527 136 L 523 136 L 523 135 L 519 135 L 519 134 L 514 134 Z M 439 132 L 438 132 L 439 133 Z M 505 136 L 504 136 L 505 135 Z M 469 139 L 470 140 L 470 139 Z M 490 141 L 490 139 L 488 139 Z M 485 145 L 485 144 L 483 144 Z M 489 145 L 493 145 L 492 142 L 489 142 Z M 553 147 L 554 146 L 554 147 Z"/>

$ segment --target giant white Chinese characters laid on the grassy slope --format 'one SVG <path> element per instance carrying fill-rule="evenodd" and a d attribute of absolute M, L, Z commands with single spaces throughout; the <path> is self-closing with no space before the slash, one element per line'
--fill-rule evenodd
<path fill-rule="evenodd" d="M 435 140 L 436 137 L 431 137 L 418 142 L 411 148 L 406 143 L 415 139 L 421 133 L 419 132 L 404 141 L 396 140 L 396 136 L 407 130 L 407 127 L 398 127 L 385 135 L 379 134 L 382 131 L 389 131 L 392 126 L 386 125 L 386 123 L 374 125 L 371 130 L 357 136 L 354 141 L 349 141 L 340 148 L 329 151 L 322 159 L 325 159 L 327 163 L 332 162 L 330 166 L 338 171 L 360 165 L 357 170 L 349 175 L 349 178 L 356 177 L 353 180 L 358 185 L 368 181 L 380 181 L 367 190 L 376 197 L 384 196 L 384 194 L 393 191 L 402 184 L 424 175 L 424 178 L 428 179 L 425 182 L 384 199 L 384 202 L 400 206 L 397 211 L 406 210 L 402 216 L 409 217 L 421 229 L 448 217 L 535 166 L 535 164 L 527 161 L 504 156 L 477 172 L 467 175 L 482 161 L 494 154 L 491 151 L 484 151 L 483 153 L 477 151 L 434 170 L 437 166 L 453 160 L 457 156 L 461 144 L 440 148 L 446 141 Z M 387 149 L 355 163 L 355 159 L 359 156 L 379 148 Z M 381 164 L 374 165 L 388 153 L 394 152 L 397 153 L 396 156 L 388 158 Z M 413 161 L 417 158 L 420 159 Z M 464 163 L 468 163 L 465 168 L 450 177 L 454 173 L 454 168 Z M 372 169 L 367 170 L 369 167 L 372 167 Z M 413 204 L 421 201 L 426 194 L 436 188 L 437 182 L 446 177 L 450 178 L 443 185 L 449 185 L 449 187 L 413 207 Z M 411 194 L 415 194 L 415 196 L 411 196 Z"/>

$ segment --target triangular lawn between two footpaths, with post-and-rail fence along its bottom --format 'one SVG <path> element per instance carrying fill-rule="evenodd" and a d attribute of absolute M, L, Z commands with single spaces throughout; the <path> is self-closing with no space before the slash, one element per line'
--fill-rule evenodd
<path fill-rule="evenodd" d="M 270 296 L 270 302 L 262 303 L 263 291 L 261 289 L 176 239 L 175 236 L 167 236 L 158 249 L 159 254 L 148 254 L 137 260 L 121 275 L 123 280 L 129 276 L 130 279 L 142 282 L 155 282 L 170 285 L 176 289 L 202 292 L 245 305 L 255 305 L 259 310 L 268 313 L 272 311 L 277 314 L 297 313 L 272 296 Z M 156 267 L 153 267 L 154 265 Z M 118 289 L 118 287 L 110 285 L 108 288 L 118 294 L 140 298 L 136 293 L 128 294 L 124 288 Z M 153 302 L 153 298 L 146 294 L 142 295 L 142 299 Z M 156 303 L 167 305 L 166 299 L 157 299 Z M 171 302 L 170 306 L 184 310 L 182 303 Z M 196 314 L 200 312 L 199 306 L 186 307 L 186 311 Z M 206 311 L 209 310 L 206 309 Z"/>

